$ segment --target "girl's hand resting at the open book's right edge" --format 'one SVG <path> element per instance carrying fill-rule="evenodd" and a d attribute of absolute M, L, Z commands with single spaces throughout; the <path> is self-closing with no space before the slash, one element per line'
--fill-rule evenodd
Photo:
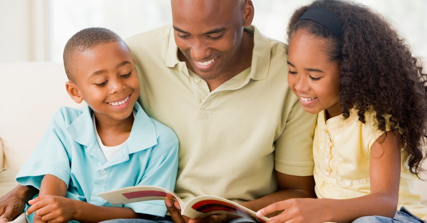
<path fill-rule="evenodd" d="M 283 210 L 270 217 L 270 223 L 278 222 L 324 222 L 324 206 L 316 198 L 290 198 L 272 203 L 256 212 L 257 216 Z"/>

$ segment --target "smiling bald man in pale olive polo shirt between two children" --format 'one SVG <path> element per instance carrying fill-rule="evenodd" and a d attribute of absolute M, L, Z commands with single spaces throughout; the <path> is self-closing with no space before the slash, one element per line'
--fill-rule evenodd
<path fill-rule="evenodd" d="M 171 8 L 172 27 L 126 42 L 136 58 L 144 110 L 179 139 L 176 193 L 184 202 L 209 194 L 252 210 L 313 197 L 315 116 L 301 109 L 286 83 L 284 45 L 250 26 L 252 1 L 171 0 Z M 7 197 L 17 199 L 8 202 L 16 205 L 11 213 L 18 214 L 33 192 L 11 191 Z M 177 203 L 165 204 L 174 222 L 232 219 L 187 219 Z"/>

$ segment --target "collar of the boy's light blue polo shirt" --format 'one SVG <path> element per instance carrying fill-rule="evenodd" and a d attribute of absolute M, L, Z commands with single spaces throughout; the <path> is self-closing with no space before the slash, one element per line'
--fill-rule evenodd
<path fill-rule="evenodd" d="M 157 134 L 154 123 L 139 103 L 135 103 L 133 109 L 136 111 L 136 115 L 126 146 L 127 153 L 129 154 L 150 148 L 157 144 Z M 88 105 L 82 110 L 83 112 L 78 115 L 66 129 L 75 141 L 87 147 L 93 147 L 93 144 L 97 143 L 91 118 L 93 111 Z"/>

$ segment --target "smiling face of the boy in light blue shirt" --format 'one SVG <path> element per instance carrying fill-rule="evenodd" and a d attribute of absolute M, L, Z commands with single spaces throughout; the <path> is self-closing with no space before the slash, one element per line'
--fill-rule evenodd
<path fill-rule="evenodd" d="M 74 62 L 74 82 L 67 82 L 74 101 L 84 100 L 98 121 L 108 121 L 104 123 L 129 117 L 139 95 L 139 82 L 135 60 L 124 43 L 109 42 L 77 52 Z"/>

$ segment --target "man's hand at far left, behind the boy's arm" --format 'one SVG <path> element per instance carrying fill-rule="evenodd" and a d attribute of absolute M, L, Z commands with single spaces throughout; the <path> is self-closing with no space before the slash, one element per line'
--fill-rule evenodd
<path fill-rule="evenodd" d="M 33 186 L 17 185 L 8 193 L 0 197 L 0 223 L 15 219 L 24 210 L 25 203 L 31 199 L 38 190 Z"/>

